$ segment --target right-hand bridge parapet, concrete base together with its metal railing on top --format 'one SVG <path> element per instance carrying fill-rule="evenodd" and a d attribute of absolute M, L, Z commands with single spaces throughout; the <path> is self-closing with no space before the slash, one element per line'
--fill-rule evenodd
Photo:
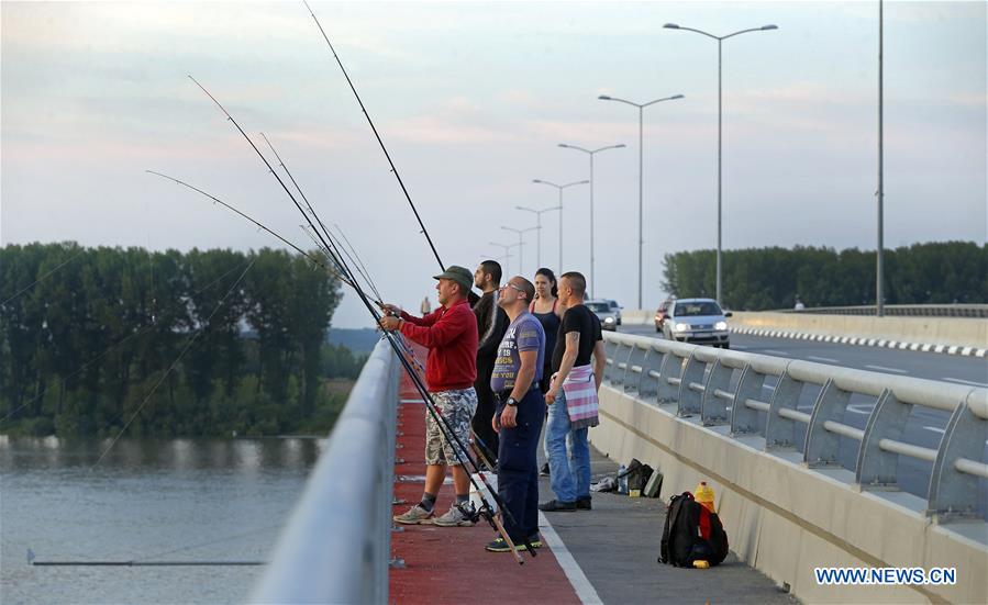
<path fill-rule="evenodd" d="M 657 464 L 669 494 L 711 481 L 732 547 L 797 596 L 988 598 L 988 525 L 978 501 L 988 478 L 985 389 L 624 334 L 604 339 L 595 446 Z M 863 429 L 844 422 L 848 408 L 862 412 L 852 396 L 875 404 Z M 917 407 L 950 414 L 937 448 L 904 439 Z M 857 442 L 852 469 L 839 460 L 842 438 Z M 926 497 L 899 489 L 903 457 L 932 462 Z M 870 593 L 817 585 L 813 567 L 834 564 L 955 567 L 958 580 Z"/>

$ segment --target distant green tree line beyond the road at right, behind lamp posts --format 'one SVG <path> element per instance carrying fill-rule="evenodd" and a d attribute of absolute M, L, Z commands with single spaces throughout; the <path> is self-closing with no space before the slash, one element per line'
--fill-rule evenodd
<path fill-rule="evenodd" d="M 797 246 L 725 250 L 723 302 L 737 310 L 875 304 L 876 253 Z M 913 244 L 888 249 L 886 304 L 988 302 L 988 246 L 974 242 Z M 665 255 L 663 287 L 677 298 L 713 298 L 717 253 Z"/>

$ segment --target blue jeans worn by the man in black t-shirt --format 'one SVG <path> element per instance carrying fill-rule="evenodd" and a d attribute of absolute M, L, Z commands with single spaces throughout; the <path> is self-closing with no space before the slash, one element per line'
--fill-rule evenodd
<path fill-rule="evenodd" d="M 569 428 L 566 395 L 548 406 L 548 424 L 545 427 L 545 450 L 548 453 L 549 485 L 559 502 L 576 502 L 590 497 L 590 444 L 589 428 Z"/>

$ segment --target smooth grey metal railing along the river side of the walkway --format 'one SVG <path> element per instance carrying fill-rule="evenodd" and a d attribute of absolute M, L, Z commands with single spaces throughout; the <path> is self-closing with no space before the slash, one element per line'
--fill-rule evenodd
<path fill-rule="evenodd" d="M 387 603 L 400 363 L 378 343 L 252 603 Z"/>

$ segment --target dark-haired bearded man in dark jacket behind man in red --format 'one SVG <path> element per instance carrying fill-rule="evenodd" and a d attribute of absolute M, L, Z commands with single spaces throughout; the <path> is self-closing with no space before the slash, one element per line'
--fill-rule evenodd
<path fill-rule="evenodd" d="M 477 347 L 477 380 L 474 390 L 477 391 L 477 412 L 471 423 L 477 441 L 490 460 L 497 464 L 498 434 L 491 428 L 490 419 L 493 417 L 497 402 L 493 391 L 490 390 L 490 374 L 493 371 L 495 360 L 498 357 L 498 345 L 508 329 L 508 315 L 498 305 L 498 288 L 501 287 L 501 265 L 497 260 L 485 260 L 474 271 L 474 285 L 484 295 L 474 304 L 474 315 L 477 317 L 477 334 L 479 345 Z"/>

